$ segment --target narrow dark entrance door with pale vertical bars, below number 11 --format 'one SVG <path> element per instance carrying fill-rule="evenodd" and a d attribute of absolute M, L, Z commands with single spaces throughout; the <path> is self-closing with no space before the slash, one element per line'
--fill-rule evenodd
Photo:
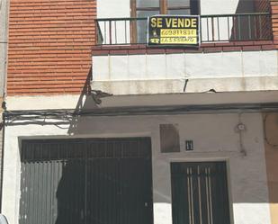
<path fill-rule="evenodd" d="M 172 163 L 174 224 L 229 224 L 225 162 Z"/>

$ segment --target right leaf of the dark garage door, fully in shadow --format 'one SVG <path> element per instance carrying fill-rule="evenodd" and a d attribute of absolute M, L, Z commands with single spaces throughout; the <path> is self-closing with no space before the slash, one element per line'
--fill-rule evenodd
<path fill-rule="evenodd" d="M 89 142 L 87 223 L 152 223 L 150 153 L 148 139 Z"/>

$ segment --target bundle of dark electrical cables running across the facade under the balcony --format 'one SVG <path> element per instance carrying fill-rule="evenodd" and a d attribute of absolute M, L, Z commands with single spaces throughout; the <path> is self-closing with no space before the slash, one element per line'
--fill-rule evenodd
<path fill-rule="evenodd" d="M 149 107 L 113 107 L 93 110 L 43 110 L 43 111 L 5 111 L 5 124 L 26 120 L 73 121 L 80 116 L 135 116 L 135 115 L 179 115 L 179 114 L 215 114 L 238 112 L 277 112 L 278 103 L 249 104 L 211 104 L 177 105 Z"/>

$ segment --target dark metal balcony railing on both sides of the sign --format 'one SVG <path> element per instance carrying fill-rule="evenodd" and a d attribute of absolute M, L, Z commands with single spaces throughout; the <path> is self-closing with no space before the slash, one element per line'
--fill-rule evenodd
<path fill-rule="evenodd" d="M 202 43 L 272 40 L 270 13 L 201 15 Z M 98 45 L 146 44 L 148 18 L 97 19 Z"/>

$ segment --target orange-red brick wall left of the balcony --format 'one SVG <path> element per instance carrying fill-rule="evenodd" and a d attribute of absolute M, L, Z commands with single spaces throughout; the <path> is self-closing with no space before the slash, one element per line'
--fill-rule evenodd
<path fill-rule="evenodd" d="M 11 0 L 7 94 L 79 94 L 95 18 L 96 0 Z"/>

